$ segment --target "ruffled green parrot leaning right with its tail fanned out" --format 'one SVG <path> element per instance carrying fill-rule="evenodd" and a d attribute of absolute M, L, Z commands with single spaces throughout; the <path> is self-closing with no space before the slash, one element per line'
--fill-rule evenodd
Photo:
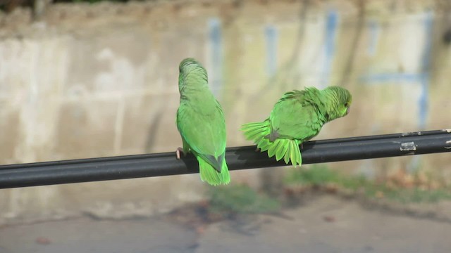
<path fill-rule="evenodd" d="M 351 103 L 351 93 L 339 86 L 289 91 L 274 105 L 268 119 L 243 124 L 241 130 L 261 152 L 268 150 L 268 157 L 276 155 L 276 160 L 283 158 L 286 164 L 291 160 L 296 167 L 302 164 L 299 144 L 319 134 L 326 122 L 347 115 Z"/>

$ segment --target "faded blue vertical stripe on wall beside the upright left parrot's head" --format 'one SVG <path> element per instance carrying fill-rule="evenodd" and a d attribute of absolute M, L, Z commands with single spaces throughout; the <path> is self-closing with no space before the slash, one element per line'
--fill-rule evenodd
<path fill-rule="evenodd" d="M 221 34 L 221 21 L 217 18 L 211 18 L 209 25 L 209 41 L 211 44 L 211 73 L 209 84 L 214 96 L 218 98 L 223 85 L 223 41 Z"/>

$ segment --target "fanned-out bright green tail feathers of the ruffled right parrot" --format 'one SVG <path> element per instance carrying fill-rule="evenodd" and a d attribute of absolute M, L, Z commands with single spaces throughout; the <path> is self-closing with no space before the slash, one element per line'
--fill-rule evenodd
<path fill-rule="evenodd" d="M 241 126 L 247 140 L 254 141 L 261 152 L 268 150 L 268 157 L 276 155 L 276 160 L 283 160 L 286 164 L 291 161 L 293 166 L 302 164 L 299 141 L 294 139 L 278 138 L 271 142 L 268 136 L 271 134 L 271 127 L 268 121 L 247 123 Z"/>

